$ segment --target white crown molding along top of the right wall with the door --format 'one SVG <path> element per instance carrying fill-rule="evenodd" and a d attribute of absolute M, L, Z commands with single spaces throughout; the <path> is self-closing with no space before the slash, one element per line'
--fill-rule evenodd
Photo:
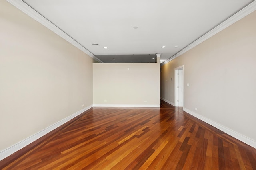
<path fill-rule="evenodd" d="M 236 14 L 234 14 L 233 16 L 228 18 L 227 20 L 223 21 L 218 26 L 214 27 L 208 33 L 202 35 L 202 37 L 198 38 L 196 41 L 192 42 L 190 45 L 188 45 L 187 47 L 185 47 L 184 49 L 182 49 L 181 51 L 179 51 L 178 53 L 176 53 L 175 55 L 173 55 L 172 57 L 170 57 L 169 59 L 167 59 L 166 61 L 164 61 L 160 65 L 163 66 L 164 64 L 169 63 L 173 59 L 175 59 L 175 58 L 179 57 L 180 55 L 186 53 L 190 49 L 196 47 L 197 45 L 199 45 L 200 43 L 205 41 L 206 39 L 212 37 L 213 35 L 217 34 L 218 32 L 220 32 L 223 29 L 227 28 L 228 26 L 232 25 L 236 21 L 238 21 L 238 20 L 244 18 L 245 16 L 247 16 L 248 14 L 254 12 L 255 10 L 256 10 L 256 1 L 254 0 L 249 5 L 244 7 L 242 10 L 238 11 Z"/>

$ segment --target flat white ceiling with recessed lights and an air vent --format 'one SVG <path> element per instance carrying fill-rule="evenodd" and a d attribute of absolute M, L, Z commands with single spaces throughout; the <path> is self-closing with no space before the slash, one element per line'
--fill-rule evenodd
<path fill-rule="evenodd" d="M 23 1 L 93 55 L 161 53 L 165 61 L 254 0 Z"/>

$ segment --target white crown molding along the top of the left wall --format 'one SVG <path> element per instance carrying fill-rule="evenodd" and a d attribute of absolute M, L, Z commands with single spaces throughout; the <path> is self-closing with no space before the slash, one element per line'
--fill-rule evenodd
<path fill-rule="evenodd" d="M 12 4 L 13 6 L 18 8 L 25 14 L 27 14 L 34 20 L 38 21 L 39 23 L 41 23 L 42 25 L 44 25 L 45 27 L 47 27 L 48 29 L 50 29 L 51 31 L 53 31 L 54 33 L 56 33 L 57 35 L 59 35 L 60 37 L 62 37 L 63 39 L 65 39 L 66 41 L 68 41 L 69 43 L 71 43 L 72 45 L 74 45 L 75 47 L 77 47 L 78 49 L 83 51 L 84 53 L 86 53 L 87 55 L 89 55 L 90 57 L 92 57 L 93 59 L 99 61 L 100 63 L 103 63 L 100 59 L 95 57 L 94 54 L 92 54 L 90 51 L 88 51 L 84 46 L 82 46 L 80 43 L 78 43 L 76 40 L 74 40 L 72 37 L 70 37 L 68 34 L 66 34 L 64 31 L 62 31 L 56 25 L 51 23 L 49 20 L 44 18 L 44 16 L 42 16 L 41 14 L 36 12 L 36 10 L 34 10 L 30 6 L 28 6 L 28 4 L 26 4 L 22 0 L 7 0 L 7 2 Z"/>

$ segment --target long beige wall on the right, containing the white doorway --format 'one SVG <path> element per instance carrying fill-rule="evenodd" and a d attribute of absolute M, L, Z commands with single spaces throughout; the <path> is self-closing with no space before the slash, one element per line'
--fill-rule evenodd
<path fill-rule="evenodd" d="M 184 108 L 254 142 L 255 18 L 256 12 L 249 14 L 162 66 L 161 73 L 161 97 L 174 103 L 174 81 L 170 78 L 174 78 L 174 68 L 184 65 Z"/>

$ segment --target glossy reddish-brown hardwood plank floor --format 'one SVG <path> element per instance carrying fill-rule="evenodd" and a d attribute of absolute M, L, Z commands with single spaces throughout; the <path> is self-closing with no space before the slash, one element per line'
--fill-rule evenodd
<path fill-rule="evenodd" d="M 256 149 L 161 101 L 94 107 L 0 169 L 256 170 Z"/>

